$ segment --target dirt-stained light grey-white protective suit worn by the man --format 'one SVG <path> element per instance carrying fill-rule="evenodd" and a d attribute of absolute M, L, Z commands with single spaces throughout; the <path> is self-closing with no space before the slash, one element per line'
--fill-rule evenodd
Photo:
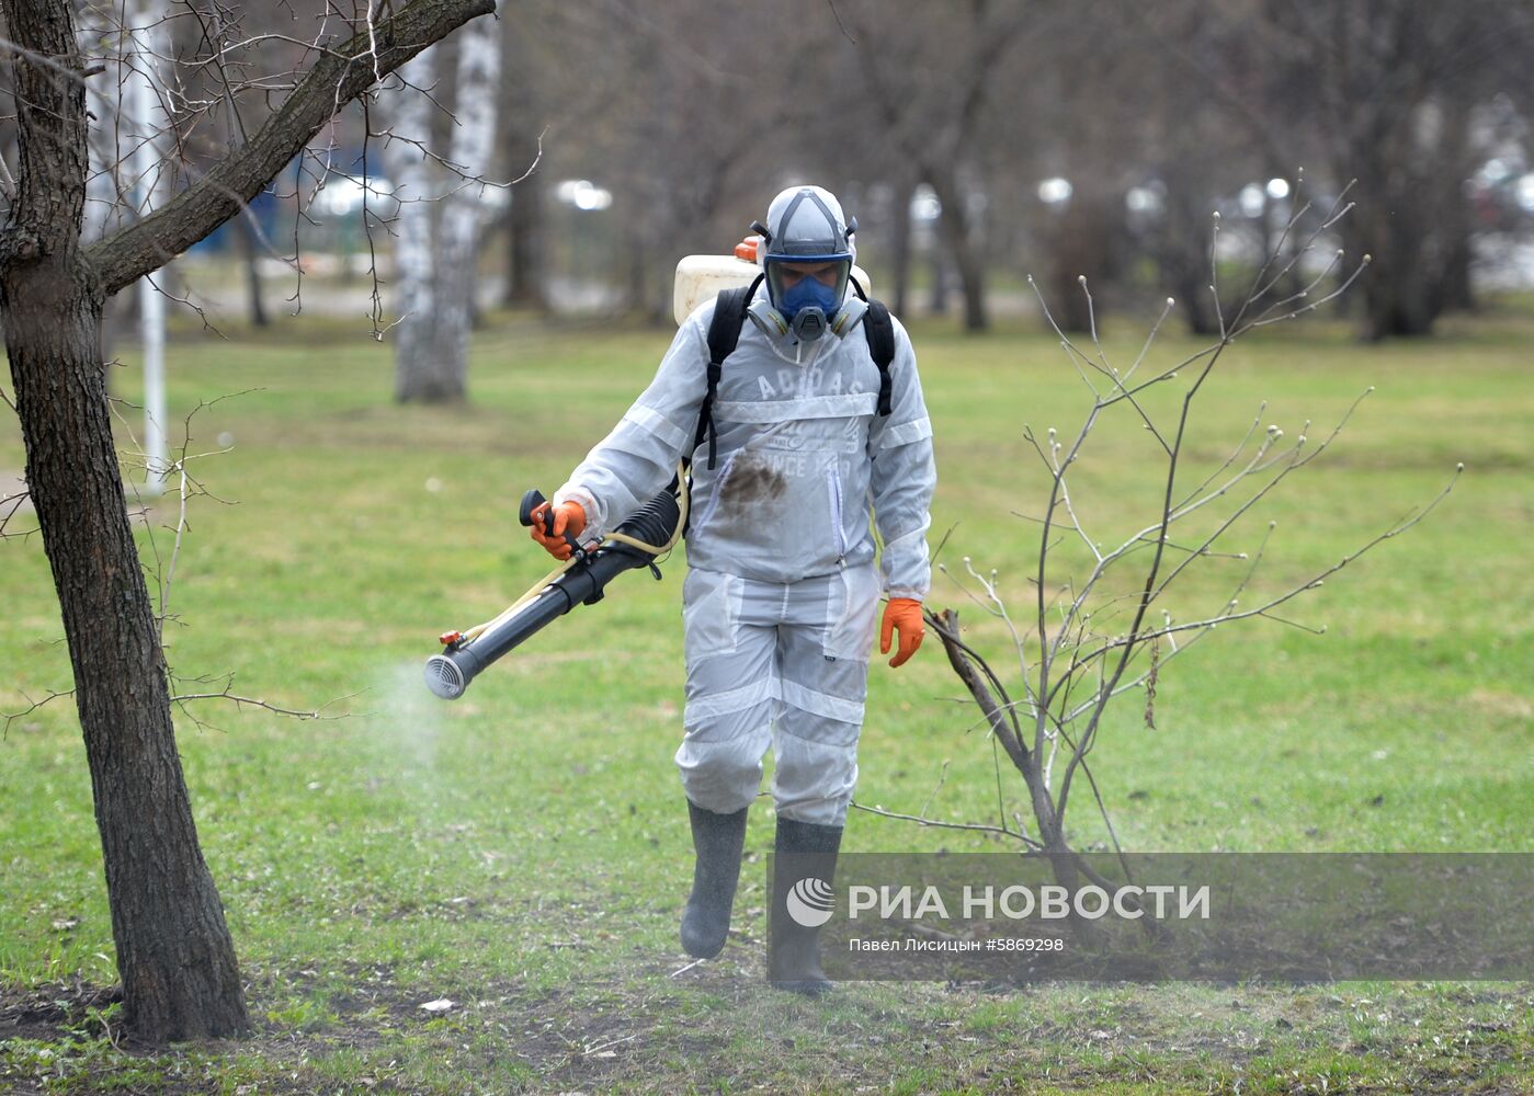
<path fill-rule="evenodd" d="M 758 287 L 758 299 L 767 293 Z M 707 388 L 715 302 L 681 325 L 655 380 L 555 494 L 586 510 L 583 540 L 615 529 L 689 454 Z M 796 345 L 746 322 L 692 464 L 683 586 L 687 797 L 727 814 L 755 799 L 769 742 L 778 812 L 841 826 L 858 777 L 881 592 L 923 599 L 936 486 L 916 354 L 894 322 L 891 414 L 864 331 Z M 801 363 L 795 363 L 795 359 Z M 874 567 L 870 507 L 884 541 Z M 882 570 L 882 575 L 881 575 Z"/>

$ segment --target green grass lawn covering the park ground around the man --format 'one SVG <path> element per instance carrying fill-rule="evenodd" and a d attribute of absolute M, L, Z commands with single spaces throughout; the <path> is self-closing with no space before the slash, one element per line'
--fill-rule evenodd
<path fill-rule="evenodd" d="M 1037 512 L 1045 484 L 1022 428 L 1074 428 L 1086 392 L 1032 330 L 914 334 L 937 432 L 933 543 L 953 527 L 943 559 L 997 567 L 1022 605 L 1037 526 L 1009 512 Z M 1132 359 L 1137 325 L 1117 320 L 1109 336 L 1114 360 Z M 1525 314 L 1385 346 L 1312 323 L 1232 351 L 1200 402 L 1195 466 L 1223 460 L 1259 400 L 1264 425 L 1293 435 L 1315 418 L 1318 435 L 1376 386 L 1335 449 L 1230 538 L 1229 550 L 1250 549 L 1278 521 L 1264 589 L 1388 527 L 1437 494 L 1456 461 L 1467 472 L 1428 521 L 1295 610 L 1327 624 L 1325 636 L 1270 622 L 1216 633 L 1163 673 L 1155 730 L 1126 697 L 1094 773 L 1127 848 L 1534 849 L 1531 336 Z M 195 466 L 229 504 L 192 503 L 169 658 L 189 678 L 235 671 L 236 691 L 284 707 L 350 697 L 333 710 L 353 714 L 293 722 L 206 702 L 192 713 L 207 727 L 178 717 L 256 1036 L 133 1056 L 112 1047 L 110 1018 L 103 1029 L 60 1009 L 31 1032 L 0 1027 L 0 1082 L 229 1093 L 1534 1090 L 1528 986 L 854 984 L 828 1004 L 787 999 L 759 980 L 765 809 L 747 837 L 738 935 L 719 961 L 670 976 L 684 966 L 675 923 L 690 878 L 670 765 L 680 561 L 660 584 L 623 579 L 456 704 L 430 697 L 419 676 L 439 632 L 494 615 L 546 570 L 515 524 L 522 491 L 558 486 L 649 380 L 666 340 L 492 317 L 476 342 L 472 403 L 459 409 L 396 408 L 387 349 L 350 328 L 302 320 L 259 342 L 172 340 L 178 415 L 256 391 L 192 420 L 195 452 L 232 441 Z M 1170 336 L 1157 360 L 1192 346 Z M 124 360 L 114 388 L 137 399 L 132 353 Z M 1081 460 L 1078 514 L 1100 540 L 1154 510 L 1154 445 L 1115 417 Z M 15 422 L 0 417 L 0 471 L 21 466 Z M 152 510 L 161 553 L 175 517 L 166 501 Z M 1233 576 L 1212 561 L 1178 615 L 1218 604 Z M 1009 665 L 996 625 L 953 582 L 939 576 L 933 601 L 960 609 L 971 638 Z M 0 544 L 0 711 L 17 711 L 69 685 L 37 538 Z M 973 716 L 951 702 L 959 694 L 936 647 L 900 671 L 874 665 L 859 802 L 914 812 L 931 796 L 934 817 L 994 815 L 991 751 L 966 736 Z M 72 999 L 77 983 L 115 976 L 67 699 L 11 725 L 0 802 L 0 986 L 8 1001 L 52 1015 L 48 1001 Z M 1071 835 L 1104 840 L 1086 802 L 1072 806 Z M 854 814 L 847 848 L 1000 846 Z M 419 1009 L 440 996 L 459 1002 L 445 1018 Z"/>

